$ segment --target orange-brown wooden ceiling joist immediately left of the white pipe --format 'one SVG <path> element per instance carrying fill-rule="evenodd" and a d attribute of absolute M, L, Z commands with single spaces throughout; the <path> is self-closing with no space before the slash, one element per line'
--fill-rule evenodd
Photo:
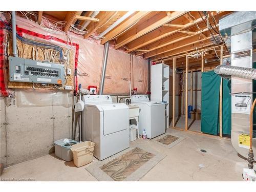
<path fill-rule="evenodd" d="M 84 35 L 84 38 L 88 38 L 90 37 L 94 32 L 97 31 L 97 29 L 105 24 L 110 17 L 112 17 L 113 15 L 115 15 L 116 12 L 115 11 L 100 11 L 99 14 L 95 17 L 99 19 L 99 22 L 91 22 L 87 29 L 88 29 L 88 33 L 86 35 Z"/>

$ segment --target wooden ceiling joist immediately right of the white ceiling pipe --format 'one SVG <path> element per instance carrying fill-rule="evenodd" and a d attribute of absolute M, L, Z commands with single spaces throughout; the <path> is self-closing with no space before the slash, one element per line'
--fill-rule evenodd
<path fill-rule="evenodd" d="M 124 22 L 122 22 L 116 28 L 114 28 L 109 33 L 107 33 L 104 36 L 105 38 L 101 40 L 101 44 L 103 45 L 106 41 L 111 40 L 112 38 L 120 35 L 120 33 L 123 33 L 125 30 L 131 28 L 142 17 L 146 16 L 148 13 L 150 13 L 150 11 L 137 11 L 136 14 L 132 15 L 129 19 L 126 19 Z"/>

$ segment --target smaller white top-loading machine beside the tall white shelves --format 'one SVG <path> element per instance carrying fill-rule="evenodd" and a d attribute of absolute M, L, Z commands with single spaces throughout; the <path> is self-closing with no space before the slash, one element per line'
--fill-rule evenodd
<path fill-rule="evenodd" d="M 146 131 L 148 139 L 165 133 L 165 105 L 150 101 L 146 95 L 132 95 L 132 104 L 139 105 L 139 135 Z"/>

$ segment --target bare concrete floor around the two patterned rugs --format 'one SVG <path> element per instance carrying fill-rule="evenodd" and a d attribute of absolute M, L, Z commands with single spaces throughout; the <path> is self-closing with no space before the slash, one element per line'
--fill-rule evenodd
<path fill-rule="evenodd" d="M 140 181 L 242 181 L 242 170 L 247 162 L 237 156 L 230 139 L 174 129 L 167 132 L 185 139 L 172 148 L 148 139 L 131 142 L 131 146 L 148 143 L 154 150 L 167 155 Z M 200 152 L 201 149 L 207 153 Z M 97 161 L 94 159 L 92 163 Z M 97 181 L 87 172 L 86 166 L 77 168 L 72 161 L 65 162 L 52 154 L 8 167 L 1 179 Z"/>

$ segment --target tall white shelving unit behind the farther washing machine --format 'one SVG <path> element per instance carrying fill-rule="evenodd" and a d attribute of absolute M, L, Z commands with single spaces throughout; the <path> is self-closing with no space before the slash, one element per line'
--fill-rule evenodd
<path fill-rule="evenodd" d="M 151 66 L 151 100 L 165 103 L 165 127 L 169 126 L 169 66 Z"/>

